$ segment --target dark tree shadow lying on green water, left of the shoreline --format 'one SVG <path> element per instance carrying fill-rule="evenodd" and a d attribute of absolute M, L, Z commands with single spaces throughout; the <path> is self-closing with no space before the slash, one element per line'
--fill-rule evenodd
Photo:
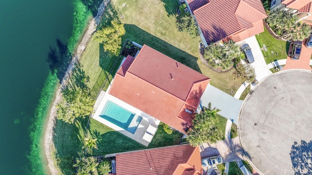
<path fill-rule="evenodd" d="M 57 74 L 59 82 L 64 77 L 71 58 L 72 56 L 68 52 L 67 44 L 62 43 L 59 39 L 57 39 L 57 47 L 53 48 L 50 46 L 47 62 L 52 73 Z"/>

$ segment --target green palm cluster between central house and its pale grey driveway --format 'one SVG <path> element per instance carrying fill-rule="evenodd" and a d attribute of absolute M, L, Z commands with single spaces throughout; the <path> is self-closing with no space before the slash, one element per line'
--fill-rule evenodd
<path fill-rule="evenodd" d="M 220 110 L 212 108 L 211 103 L 204 108 L 200 114 L 195 115 L 193 126 L 190 128 L 186 138 L 192 146 L 197 146 L 206 142 L 216 142 L 222 139 L 222 132 L 217 129 L 215 123 L 218 122 L 217 112 Z"/>

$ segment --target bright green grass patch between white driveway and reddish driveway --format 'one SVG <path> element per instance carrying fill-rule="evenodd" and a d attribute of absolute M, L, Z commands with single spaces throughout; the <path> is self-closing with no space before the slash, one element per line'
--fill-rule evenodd
<path fill-rule="evenodd" d="M 275 59 L 280 60 L 287 58 L 287 53 L 289 50 L 289 42 L 274 38 L 265 27 L 264 32 L 255 36 L 258 40 L 260 48 L 263 47 L 263 44 L 265 44 L 266 47 L 268 48 L 267 52 L 262 50 L 262 54 L 267 64 L 271 63 L 271 61 L 273 62 Z M 273 51 L 274 53 L 272 54 L 271 51 Z M 278 54 L 275 55 L 275 53 Z"/>

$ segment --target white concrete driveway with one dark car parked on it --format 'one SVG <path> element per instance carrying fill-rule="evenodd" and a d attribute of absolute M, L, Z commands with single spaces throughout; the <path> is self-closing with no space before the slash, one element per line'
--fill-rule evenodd
<path fill-rule="evenodd" d="M 266 76 L 272 74 L 272 72 L 267 67 L 267 63 L 265 62 L 265 59 L 255 36 L 247 38 L 241 42 L 238 42 L 237 44 L 242 45 L 243 43 L 247 43 L 250 46 L 254 55 L 254 62 L 250 63 L 250 65 L 254 68 L 256 79 L 258 81 L 261 81 Z"/>

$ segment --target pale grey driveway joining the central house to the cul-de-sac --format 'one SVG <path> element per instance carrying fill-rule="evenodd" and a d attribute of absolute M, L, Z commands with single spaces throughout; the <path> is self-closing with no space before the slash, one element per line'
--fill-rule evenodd
<path fill-rule="evenodd" d="M 209 84 L 200 98 L 200 104 L 196 112 L 199 113 L 203 106 L 207 107 L 209 102 L 212 107 L 221 110 L 218 114 L 228 119 L 233 119 L 234 123 L 237 124 L 239 110 L 243 104 L 242 100 L 238 100 Z"/>

